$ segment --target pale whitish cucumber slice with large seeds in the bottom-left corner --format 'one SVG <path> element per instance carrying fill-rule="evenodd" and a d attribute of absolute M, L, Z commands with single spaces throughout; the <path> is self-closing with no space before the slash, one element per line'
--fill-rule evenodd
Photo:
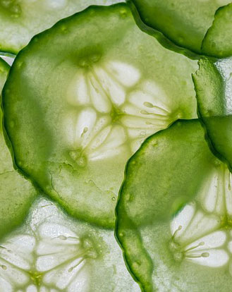
<path fill-rule="evenodd" d="M 0 242 L 0 291 L 139 292 L 140 288 L 126 269 L 114 231 L 74 221 L 39 197 L 25 224 Z"/>

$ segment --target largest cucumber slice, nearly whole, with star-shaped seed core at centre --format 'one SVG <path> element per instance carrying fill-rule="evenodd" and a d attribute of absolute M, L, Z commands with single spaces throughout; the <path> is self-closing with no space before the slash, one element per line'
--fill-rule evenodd
<path fill-rule="evenodd" d="M 20 52 L 4 87 L 16 164 L 69 214 L 113 227 L 128 158 L 196 116 L 195 68 L 141 32 L 126 4 L 62 20 Z"/>

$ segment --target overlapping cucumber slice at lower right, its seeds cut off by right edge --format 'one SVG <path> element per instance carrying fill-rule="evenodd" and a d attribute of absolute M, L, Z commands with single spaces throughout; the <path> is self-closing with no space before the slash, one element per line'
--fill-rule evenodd
<path fill-rule="evenodd" d="M 116 236 L 142 291 L 229 291 L 231 181 L 198 120 L 152 135 L 130 158 Z"/>

